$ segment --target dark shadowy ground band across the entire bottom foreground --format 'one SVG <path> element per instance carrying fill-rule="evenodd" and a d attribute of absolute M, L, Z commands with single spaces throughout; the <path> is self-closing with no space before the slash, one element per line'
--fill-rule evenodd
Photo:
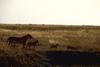
<path fill-rule="evenodd" d="M 56 67 L 55 65 L 60 67 L 69 67 L 70 65 L 100 67 L 100 52 L 47 51 L 45 55 L 34 52 L 15 57 L 0 56 L 0 67 Z"/>

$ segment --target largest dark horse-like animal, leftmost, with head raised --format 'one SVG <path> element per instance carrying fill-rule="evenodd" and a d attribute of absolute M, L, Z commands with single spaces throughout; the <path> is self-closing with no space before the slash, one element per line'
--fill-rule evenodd
<path fill-rule="evenodd" d="M 8 43 L 8 45 L 22 44 L 23 48 L 24 48 L 26 45 L 26 41 L 28 39 L 32 39 L 32 38 L 33 37 L 30 34 L 27 34 L 27 35 L 22 36 L 22 37 L 9 37 L 7 39 L 7 43 Z"/>

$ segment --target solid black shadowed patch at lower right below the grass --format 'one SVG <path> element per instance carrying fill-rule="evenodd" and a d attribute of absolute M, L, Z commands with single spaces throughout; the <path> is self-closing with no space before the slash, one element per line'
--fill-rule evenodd
<path fill-rule="evenodd" d="M 53 65 L 100 65 L 100 52 L 49 51 L 47 55 Z"/>

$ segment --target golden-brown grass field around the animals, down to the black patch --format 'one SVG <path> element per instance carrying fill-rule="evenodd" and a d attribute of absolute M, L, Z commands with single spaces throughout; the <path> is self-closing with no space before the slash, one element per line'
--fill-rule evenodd
<path fill-rule="evenodd" d="M 23 36 L 26 34 L 31 34 L 32 37 L 37 38 L 41 45 L 37 46 L 35 50 L 33 48 L 23 49 L 21 45 L 17 45 L 15 48 L 7 45 L 6 40 L 8 37 Z M 57 48 L 50 48 L 51 44 L 49 40 L 57 42 L 59 46 Z M 75 49 L 70 49 L 68 46 L 75 47 Z M 35 65 L 37 67 L 50 66 L 45 57 L 46 51 L 100 51 L 100 27 L 32 24 L 0 25 L 0 56 L 14 58 L 11 62 L 14 61 L 15 63 L 13 64 L 15 66 L 17 64 L 19 66 L 22 65 L 22 67 L 33 67 Z M 39 57 L 34 59 L 35 55 Z M 30 57 L 27 58 L 27 56 Z M 39 58 L 41 57 L 44 59 L 40 60 Z M 2 61 L 2 63 L 5 61 Z M 11 64 L 12 67 L 15 67 L 13 64 Z"/>

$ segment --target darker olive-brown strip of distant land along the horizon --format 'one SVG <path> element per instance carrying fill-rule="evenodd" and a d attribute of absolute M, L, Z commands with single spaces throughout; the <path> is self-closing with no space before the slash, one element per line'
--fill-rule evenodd
<path fill-rule="evenodd" d="M 80 30 L 80 29 L 96 29 L 100 30 L 100 26 L 78 26 L 78 25 L 37 25 L 37 24 L 0 24 L 0 28 L 11 29 L 11 30 L 39 30 L 39 31 L 50 31 L 50 30 Z"/>

